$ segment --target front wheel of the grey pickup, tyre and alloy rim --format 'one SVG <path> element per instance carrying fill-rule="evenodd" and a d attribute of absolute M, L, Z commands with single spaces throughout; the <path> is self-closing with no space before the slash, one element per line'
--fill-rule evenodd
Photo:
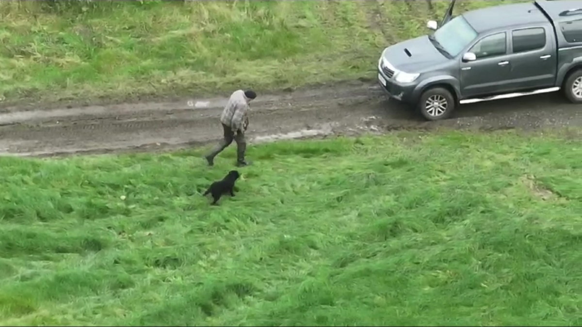
<path fill-rule="evenodd" d="M 429 88 L 418 101 L 418 110 L 427 120 L 447 119 L 455 110 L 455 97 L 442 87 Z"/>

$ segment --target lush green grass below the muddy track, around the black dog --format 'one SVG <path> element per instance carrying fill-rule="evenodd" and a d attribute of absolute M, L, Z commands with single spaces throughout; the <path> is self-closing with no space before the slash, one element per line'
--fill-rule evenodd
<path fill-rule="evenodd" d="M 582 324 L 577 139 L 0 158 L 0 325 Z M 334 165 L 329 165 L 333 162 Z"/>

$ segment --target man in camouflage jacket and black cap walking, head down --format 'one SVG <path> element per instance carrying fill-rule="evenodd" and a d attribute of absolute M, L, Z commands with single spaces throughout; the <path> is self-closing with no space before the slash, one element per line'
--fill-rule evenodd
<path fill-rule="evenodd" d="M 233 140 L 236 141 L 236 165 L 239 167 L 249 165 L 244 160 L 244 152 L 247 148 L 244 132 L 249 127 L 249 102 L 256 97 L 257 94 L 251 90 L 238 90 L 230 95 L 228 104 L 226 104 L 220 117 L 222 129 L 224 130 L 224 138 L 210 154 L 204 157 L 208 161 L 209 166 L 214 165 L 214 157 L 228 147 Z"/>

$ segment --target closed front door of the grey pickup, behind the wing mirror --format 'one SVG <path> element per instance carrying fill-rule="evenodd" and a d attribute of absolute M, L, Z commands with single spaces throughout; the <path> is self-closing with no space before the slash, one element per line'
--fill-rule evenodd
<path fill-rule="evenodd" d="M 468 52 L 477 60 L 460 63 L 463 98 L 498 94 L 510 79 L 508 32 L 498 32 L 480 38 Z"/>

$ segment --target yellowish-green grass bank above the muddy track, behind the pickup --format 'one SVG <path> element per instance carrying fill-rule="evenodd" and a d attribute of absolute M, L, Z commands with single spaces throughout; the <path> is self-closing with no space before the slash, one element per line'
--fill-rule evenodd
<path fill-rule="evenodd" d="M 74 2 L 74 1 L 73 1 Z M 0 2 L 0 99 L 131 99 L 374 78 L 432 1 Z M 463 1 L 459 10 L 499 1 Z M 0 102 L 2 104 L 2 102 Z"/>

